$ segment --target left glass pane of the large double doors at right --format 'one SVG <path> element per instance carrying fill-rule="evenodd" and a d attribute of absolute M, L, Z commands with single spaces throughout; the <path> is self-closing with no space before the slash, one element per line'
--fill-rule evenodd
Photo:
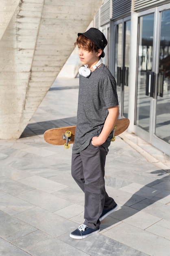
<path fill-rule="evenodd" d="M 150 127 L 150 85 L 153 83 L 153 29 L 154 13 L 139 18 L 138 24 L 138 70 L 136 125 L 149 131 Z M 146 84 L 146 80 L 149 82 Z M 152 79 L 152 80 L 151 80 Z"/>

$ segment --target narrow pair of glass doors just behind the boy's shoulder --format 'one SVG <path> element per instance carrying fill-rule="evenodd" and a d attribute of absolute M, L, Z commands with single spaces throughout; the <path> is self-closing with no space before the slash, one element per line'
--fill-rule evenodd
<path fill-rule="evenodd" d="M 113 74 L 117 82 L 120 115 L 128 116 L 129 61 L 131 21 L 128 18 L 114 22 L 115 53 Z"/>

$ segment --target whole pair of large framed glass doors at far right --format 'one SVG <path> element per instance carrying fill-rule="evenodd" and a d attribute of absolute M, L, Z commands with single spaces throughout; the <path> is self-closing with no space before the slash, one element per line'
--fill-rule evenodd
<path fill-rule="evenodd" d="M 170 9 L 138 19 L 135 124 L 137 134 L 170 152 Z M 168 6 L 169 7 L 169 6 Z"/>

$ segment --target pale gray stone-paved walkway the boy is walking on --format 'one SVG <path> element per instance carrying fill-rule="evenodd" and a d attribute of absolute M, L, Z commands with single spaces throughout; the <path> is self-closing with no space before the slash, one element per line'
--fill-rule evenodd
<path fill-rule="evenodd" d="M 111 143 L 106 163 L 118 211 L 100 233 L 69 237 L 84 221 L 72 145 L 47 144 L 43 133 L 76 123 L 77 97 L 78 79 L 56 80 L 22 137 L 0 141 L 0 255 L 170 256 L 170 159 L 127 132 Z"/>

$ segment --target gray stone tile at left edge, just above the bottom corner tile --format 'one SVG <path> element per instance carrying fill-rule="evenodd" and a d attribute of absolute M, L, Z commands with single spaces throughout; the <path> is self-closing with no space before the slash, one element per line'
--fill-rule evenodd
<path fill-rule="evenodd" d="M 0 227 L 0 236 L 7 241 L 12 241 L 37 230 L 35 227 L 2 211 L 0 211 Z"/>

